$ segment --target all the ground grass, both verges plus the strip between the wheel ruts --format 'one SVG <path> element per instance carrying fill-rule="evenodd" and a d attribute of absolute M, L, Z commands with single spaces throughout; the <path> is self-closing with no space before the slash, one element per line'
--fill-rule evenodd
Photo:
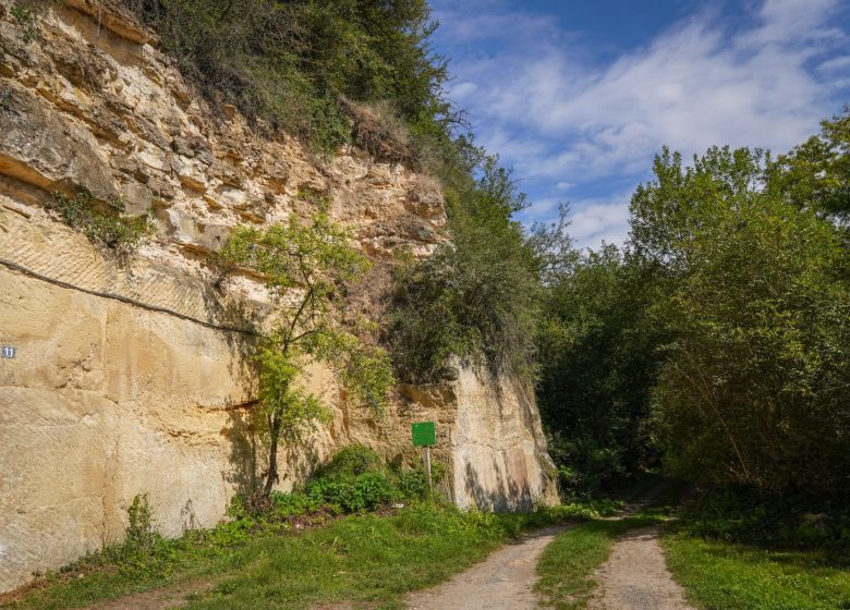
<path fill-rule="evenodd" d="M 409 591 L 449 578 L 524 530 L 585 520 L 557 536 L 537 565 L 543 607 L 580 610 L 616 539 L 670 514 L 665 507 L 619 521 L 598 518 L 620 505 L 607 500 L 494 514 L 423 502 L 338 517 L 326 511 L 291 521 L 242 515 L 179 540 L 155 537 L 151 545 L 110 547 L 42 576 L 26 595 L 0 608 L 80 608 L 171 584 L 181 584 L 186 595 L 198 581 L 207 586 L 186 596 L 191 610 L 341 602 L 399 609 Z M 846 557 L 704 539 L 684 523 L 663 527 L 661 545 L 689 601 L 702 610 L 850 610 Z"/>

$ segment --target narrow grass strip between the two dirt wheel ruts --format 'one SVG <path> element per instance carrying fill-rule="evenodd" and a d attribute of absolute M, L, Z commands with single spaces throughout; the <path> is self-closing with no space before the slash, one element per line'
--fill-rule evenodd
<path fill-rule="evenodd" d="M 560 534 L 537 563 L 539 581 L 535 590 L 542 606 L 557 610 L 585 608 L 596 587 L 593 573 L 608 559 L 616 538 L 661 518 L 643 512 L 621 521 L 590 521 Z"/>

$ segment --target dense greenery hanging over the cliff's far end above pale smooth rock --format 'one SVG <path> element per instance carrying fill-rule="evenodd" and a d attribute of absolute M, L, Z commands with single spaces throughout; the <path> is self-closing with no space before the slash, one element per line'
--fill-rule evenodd
<path fill-rule="evenodd" d="M 525 197 L 510 172 L 481 149 L 462 151 L 446 187 L 452 242 L 397 269 L 388 342 L 399 374 L 428 382 L 451 376 L 449 358 L 481 357 L 494 371 L 533 364 L 539 281 L 535 252 L 512 215 Z"/>

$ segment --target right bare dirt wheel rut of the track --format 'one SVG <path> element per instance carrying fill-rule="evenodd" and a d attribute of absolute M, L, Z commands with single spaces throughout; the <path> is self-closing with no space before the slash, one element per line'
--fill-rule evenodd
<path fill-rule="evenodd" d="M 694 610 L 667 569 L 655 526 L 618 538 L 594 580 L 598 587 L 591 610 Z"/>

